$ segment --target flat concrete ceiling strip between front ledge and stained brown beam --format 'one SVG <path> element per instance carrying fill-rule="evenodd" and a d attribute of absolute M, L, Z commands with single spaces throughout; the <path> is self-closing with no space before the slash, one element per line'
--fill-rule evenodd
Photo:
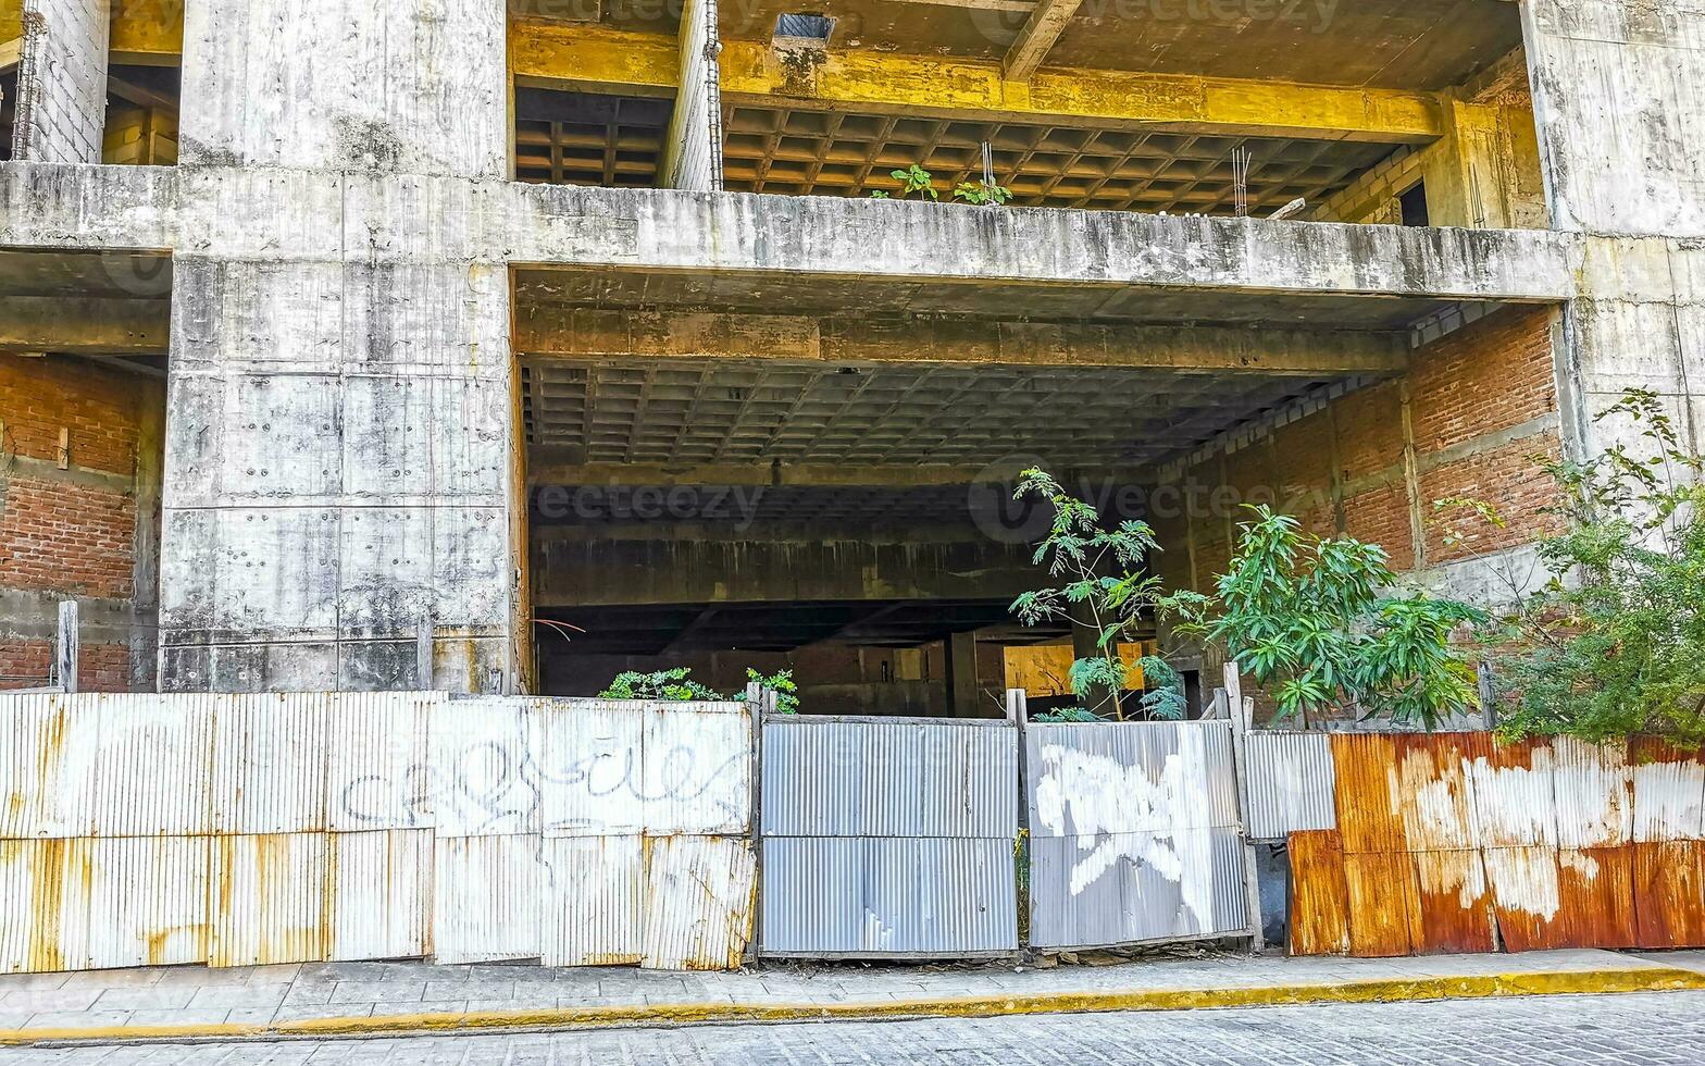
<path fill-rule="evenodd" d="M 609 309 L 735 310 L 754 314 L 941 314 L 1021 321 L 1204 322 L 1309 329 L 1400 331 L 1451 305 L 1396 297 L 1270 297 L 1129 285 L 991 285 L 970 280 L 892 281 L 779 273 L 644 269 L 520 269 L 515 302 Z"/>

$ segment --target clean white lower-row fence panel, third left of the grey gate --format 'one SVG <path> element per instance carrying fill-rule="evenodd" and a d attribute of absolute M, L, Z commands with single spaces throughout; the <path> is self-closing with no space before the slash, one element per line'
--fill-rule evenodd
<path fill-rule="evenodd" d="M 431 943 L 436 962 L 540 955 L 537 836 L 438 837 Z"/>

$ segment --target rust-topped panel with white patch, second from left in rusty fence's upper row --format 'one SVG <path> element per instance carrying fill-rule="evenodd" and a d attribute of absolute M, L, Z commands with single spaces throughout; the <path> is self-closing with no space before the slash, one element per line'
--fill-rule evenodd
<path fill-rule="evenodd" d="M 1391 803 L 1410 851 L 1463 851 L 1480 843 L 1473 766 L 1485 762 L 1485 733 L 1430 733 L 1395 739 L 1388 774 Z"/>

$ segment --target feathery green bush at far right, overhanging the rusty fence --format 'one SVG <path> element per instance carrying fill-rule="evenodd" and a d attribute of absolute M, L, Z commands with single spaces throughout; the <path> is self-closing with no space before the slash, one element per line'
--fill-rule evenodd
<path fill-rule="evenodd" d="M 1546 583 L 1487 634 L 1499 728 L 1705 744 L 1705 459 L 1654 392 L 1628 391 L 1606 418 L 1647 454 L 1543 461 L 1560 532 L 1540 541 Z"/>

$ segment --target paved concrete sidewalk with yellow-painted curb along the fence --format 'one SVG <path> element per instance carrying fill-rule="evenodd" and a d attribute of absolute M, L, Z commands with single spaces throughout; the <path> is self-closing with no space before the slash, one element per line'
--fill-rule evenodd
<path fill-rule="evenodd" d="M 0 976 L 0 1044 L 801 1018 L 992 1017 L 1705 989 L 1705 952 L 1212 955 L 1113 965 L 767 965 L 738 974 L 331 962 Z"/>

